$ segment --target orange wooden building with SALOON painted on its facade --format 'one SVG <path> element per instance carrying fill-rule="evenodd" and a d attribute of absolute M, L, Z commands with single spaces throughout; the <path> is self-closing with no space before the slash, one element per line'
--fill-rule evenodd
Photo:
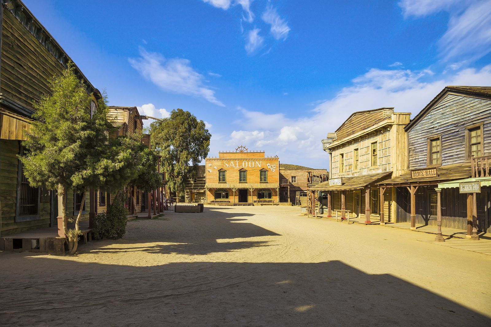
<path fill-rule="evenodd" d="M 279 203 L 279 159 L 239 147 L 205 159 L 206 202 L 225 205 Z"/>

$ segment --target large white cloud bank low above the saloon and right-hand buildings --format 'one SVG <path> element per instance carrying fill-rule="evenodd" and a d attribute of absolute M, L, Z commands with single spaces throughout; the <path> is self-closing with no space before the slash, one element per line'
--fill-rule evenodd
<path fill-rule="evenodd" d="M 283 113 L 239 107 L 243 117 L 235 123 L 241 129 L 234 130 L 228 139 L 212 137 L 212 143 L 219 149 L 244 144 L 250 150 L 278 155 L 283 163 L 327 168 L 328 156 L 322 151 L 321 140 L 353 112 L 394 107 L 395 111 L 411 112 L 414 117 L 447 85 L 489 85 L 490 81 L 491 65 L 480 70 L 449 71 L 438 77 L 430 70 L 371 69 L 354 78 L 351 86 L 341 89 L 332 99 L 295 119 Z"/>

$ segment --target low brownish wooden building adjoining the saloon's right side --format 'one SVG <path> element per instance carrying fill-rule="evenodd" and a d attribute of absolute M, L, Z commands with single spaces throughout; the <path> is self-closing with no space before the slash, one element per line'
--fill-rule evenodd
<path fill-rule="evenodd" d="M 307 191 L 310 183 L 327 181 L 327 169 L 279 164 L 279 201 L 296 205 L 297 192 Z"/>

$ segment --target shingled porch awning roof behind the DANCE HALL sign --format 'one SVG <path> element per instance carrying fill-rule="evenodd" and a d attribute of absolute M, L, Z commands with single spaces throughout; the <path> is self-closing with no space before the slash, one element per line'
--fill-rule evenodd
<path fill-rule="evenodd" d="M 436 167 L 436 176 L 412 177 L 411 172 L 383 180 L 378 185 L 409 186 L 409 185 L 433 185 L 446 180 L 463 179 L 471 176 L 470 163 L 459 163 Z"/>

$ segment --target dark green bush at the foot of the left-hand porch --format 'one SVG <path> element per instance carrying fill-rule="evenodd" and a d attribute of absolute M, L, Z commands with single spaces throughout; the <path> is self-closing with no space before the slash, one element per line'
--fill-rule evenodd
<path fill-rule="evenodd" d="M 124 207 L 124 194 L 118 193 L 109 205 L 109 213 L 101 212 L 95 217 L 95 228 L 92 230 L 94 238 L 103 237 L 117 239 L 126 233 L 128 210 Z"/>

